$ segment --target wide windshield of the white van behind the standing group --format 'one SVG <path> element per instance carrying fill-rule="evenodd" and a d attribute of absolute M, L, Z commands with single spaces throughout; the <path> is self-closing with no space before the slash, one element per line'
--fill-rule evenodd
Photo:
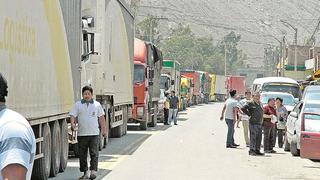
<path fill-rule="evenodd" d="M 262 88 L 263 92 L 284 92 L 293 95 L 295 98 L 299 98 L 300 88 L 295 84 L 266 84 Z"/>

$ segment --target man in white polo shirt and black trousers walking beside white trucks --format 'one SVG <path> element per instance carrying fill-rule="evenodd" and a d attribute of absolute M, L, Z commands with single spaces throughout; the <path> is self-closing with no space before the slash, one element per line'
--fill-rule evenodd
<path fill-rule="evenodd" d="M 95 179 L 98 171 L 100 129 L 103 136 L 107 134 L 105 113 L 101 104 L 93 100 L 93 89 L 90 86 L 82 88 L 82 97 L 83 99 L 76 102 L 70 111 L 71 128 L 75 129 L 77 118 L 80 171 L 84 173 L 80 179 Z M 88 170 L 88 149 L 91 173 Z"/>

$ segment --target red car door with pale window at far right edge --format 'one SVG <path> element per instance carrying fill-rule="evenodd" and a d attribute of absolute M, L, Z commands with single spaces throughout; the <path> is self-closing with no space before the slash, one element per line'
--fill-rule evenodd
<path fill-rule="evenodd" d="M 301 120 L 300 156 L 320 159 L 320 113 L 304 113 Z"/>

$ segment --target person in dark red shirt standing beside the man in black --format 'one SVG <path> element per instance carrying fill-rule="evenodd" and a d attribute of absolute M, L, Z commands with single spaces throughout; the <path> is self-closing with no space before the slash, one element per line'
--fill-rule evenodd
<path fill-rule="evenodd" d="M 275 101 L 273 98 L 268 99 L 268 104 L 263 107 L 263 148 L 265 153 L 276 153 L 273 150 L 275 140 L 275 124 L 272 119 L 276 117 L 277 112 L 274 108 Z"/>

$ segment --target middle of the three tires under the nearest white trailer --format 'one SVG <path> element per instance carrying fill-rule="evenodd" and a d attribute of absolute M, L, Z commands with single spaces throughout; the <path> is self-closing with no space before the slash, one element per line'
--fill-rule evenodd
<path fill-rule="evenodd" d="M 55 121 L 51 126 L 51 170 L 50 176 L 56 177 L 60 169 L 60 156 L 61 156 L 61 131 L 59 122 Z"/>

